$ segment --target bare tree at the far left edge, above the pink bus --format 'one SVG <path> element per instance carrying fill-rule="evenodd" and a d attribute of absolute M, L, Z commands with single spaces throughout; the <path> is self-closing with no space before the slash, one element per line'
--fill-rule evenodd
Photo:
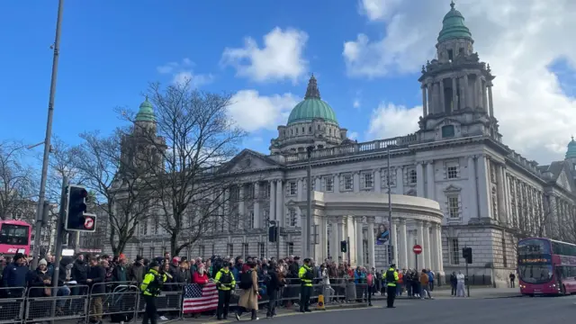
<path fill-rule="evenodd" d="M 17 142 L 0 142 L 0 219 L 18 217 L 33 220 L 37 195 L 34 170 L 25 163 L 26 148 Z"/>

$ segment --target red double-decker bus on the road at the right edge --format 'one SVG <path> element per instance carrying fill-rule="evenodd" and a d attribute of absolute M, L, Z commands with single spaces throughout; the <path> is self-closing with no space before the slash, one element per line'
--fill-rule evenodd
<path fill-rule="evenodd" d="M 558 295 L 576 293 L 576 245 L 550 238 L 518 242 L 520 293 Z"/>

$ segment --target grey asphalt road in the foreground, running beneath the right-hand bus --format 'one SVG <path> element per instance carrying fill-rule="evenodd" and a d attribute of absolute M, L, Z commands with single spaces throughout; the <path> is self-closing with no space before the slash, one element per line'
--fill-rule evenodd
<path fill-rule="evenodd" d="M 472 293 L 472 292 L 471 292 Z M 576 296 L 567 297 L 523 297 L 523 298 L 454 298 L 433 301 L 398 300 L 395 309 L 384 308 L 383 301 L 374 302 L 374 307 L 360 309 L 331 309 L 298 313 L 283 312 L 274 320 L 275 324 L 318 324 L 318 323 L 364 323 L 385 322 L 386 324 L 542 324 L 572 322 L 576 313 Z M 241 321 L 250 320 L 243 316 Z M 260 317 L 262 319 L 262 316 Z M 236 321 L 236 320 L 233 320 Z M 199 321 L 195 321 L 198 323 Z M 204 321 L 203 323 L 228 323 L 228 321 Z"/>

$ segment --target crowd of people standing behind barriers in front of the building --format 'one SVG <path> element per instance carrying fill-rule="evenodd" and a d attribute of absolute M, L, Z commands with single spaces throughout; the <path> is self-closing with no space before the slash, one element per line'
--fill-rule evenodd
<path fill-rule="evenodd" d="M 16 254 L 11 260 L 4 259 L 2 286 L 14 288 L 5 289 L 4 297 L 21 297 L 24 290 L 17 288 L 23 287 L 28 288 L 30 297 L 50 294 L 49 289 L 41 288 L 52 285 L 54 257 L 46 256 L 41 259 L 38 268 L 34 270 L 29 270 L 27 263 L 28 260 L 21 254 Z M 247 293 L 248 297 L 245 299 L 242 298 L 243 295 L 240 296 L 237 315 L 239 316 L 242 310 L 248 310 L 253 312 L 253 319 L 257 319 L 254 310 L 257 309 L 258 300 L 262 296 L 268 298 L 267 317 L 274 317 L 276 305 L 296 306 L 302 312 L 311 311 L 309 301 L 314 292 L 324 294 L 327 303 L 365 299 L 369 305 L 372 305 L 372 297 L 380 293 L 388 295 L 389 301 L 392 298 L 392 305 L 389 303 L 389 306 L 393 307 L 393 298 L 403 293 L 410 298 L 433 299 L 431 292 L 434 291 L 436 282 L 436 274 L 430 269 L 417 271 L 393 266 L 380 271 L 374 267 L 371 269 L 364 266 L 353 267 L 347 262 L 337 263 L 331 259 L 326 259 L 320 265 L 305 259 L 301 265 L 300 257 L 294 256 L 281 259 L 247 257 L 246 260 L 243 257 L 188 259 L 171 257 L 166 252 L 163 257 L 155 257 L 152 260 L 137 256 L 135 260 L 129 261 L 123 255 L 112 257 L 78 254 L 76 257 L 62 257 L 59 261 L 58 289 L 55 292 L 58 296 L 85 294 L 88 292 L 82 287 L 87 286 L 89 293 L 98 295 L 109 293 L 113 289 L 113 284 L 106 283 L 118 282 L 131 282 L 144 287 L 142 283 L 147 274 L 151 273 L 151 268 L 156 267 L 157 274 L 153 273 L 152 279 L 157 278 L 156 275 L 162 279 L 160 286 L 163 291 L 182 289 L 181 285 L 170 284 L 207 284 L 210 280 L 216 283 L 220 297 L 217 311 L 219 319 L 227 318 L 230 295 L 238 289 L 237 285 L 240 292 L 254 291 Z M 249 274 L 250 277 L 245 274 Z M 242 286 L 243 281 L 252 279 L 253 285 Z M 451 275 L 450 283 L 454 295 L 464 296 L 464 275 Z M 356 287 L 363 289 L 350 292 L 347 284 L 355 284 Z M 316 288 L 312 288 L 313 286 Z M 277 301 L 278 298 L 280 301 Z M 93 300 L 91 314 L 94 314 L 94 317 L 91 320 L 100 323 L 102 298 Z M 62 306 L 58 304 L 58 313 L 62 312 Z M 160 315 L 157 316 L 157 320 L 167 318 Z"/>

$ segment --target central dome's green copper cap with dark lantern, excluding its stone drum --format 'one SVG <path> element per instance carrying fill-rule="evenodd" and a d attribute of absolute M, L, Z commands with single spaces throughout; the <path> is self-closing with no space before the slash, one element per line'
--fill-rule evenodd
<path fill-rule="evenodd" d="M 320 90 L 316 77 L 311 76 L 306 89 L 304 100 L 294 106 L 288 117 L 288 125 L 301 121 L 312 121 L 314 118 L 322 118 L 338 125 L 336 113 L 332 107 L 320 99 Z"/>

